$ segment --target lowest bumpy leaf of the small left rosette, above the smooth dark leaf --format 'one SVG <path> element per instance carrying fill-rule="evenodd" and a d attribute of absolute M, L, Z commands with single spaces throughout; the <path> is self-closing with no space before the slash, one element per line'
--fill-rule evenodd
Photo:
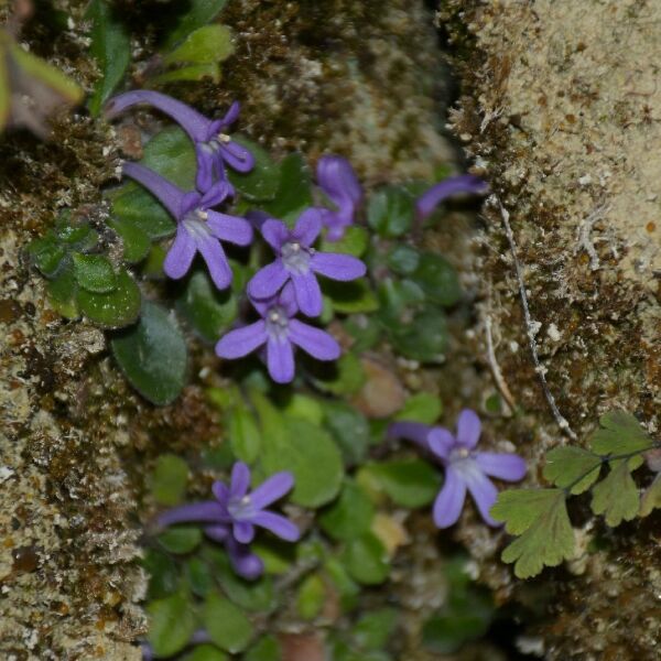
<path fill-rule="evenodd" d="M 107 294 L 80 290 L 77 304 L 80 312 L 102 328 L 121 328 L 132 324 L 140 314 L 140 290 L 127 271 L 117 274 L 117 286 Z"/>

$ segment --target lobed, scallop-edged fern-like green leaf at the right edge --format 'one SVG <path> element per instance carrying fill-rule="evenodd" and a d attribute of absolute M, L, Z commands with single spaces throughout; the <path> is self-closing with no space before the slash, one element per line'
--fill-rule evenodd
<path fill-rule="evenodd" d="M 575 540 L 566 508 L 570 496 L 589 491 L 593 513 L 603 516 L 611 528 L 661 507 L 659 480 L 641 497 L 632 477 L 644 454 L 659 446 L 633 415 L 610 411 L 599 419 L 586 448 L 565 445 L 552 449 L 543 468 L 552 487 L 501 491 L 491 509 L 492 517 L 505 522 L 506 531 L 517 535 L 502 552 L 502 560 L 514 563 L 519 578 L 571 560 Z"/>

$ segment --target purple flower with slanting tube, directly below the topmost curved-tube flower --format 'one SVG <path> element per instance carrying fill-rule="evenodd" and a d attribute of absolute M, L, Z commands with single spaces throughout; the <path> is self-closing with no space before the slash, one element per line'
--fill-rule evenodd
<path fill-rule="evenodd" d="M 227 187 L 215 186 L 204 195 L 184 193 L 152 170 L 138 163 L 124 163 L 123 173 L 150 191 L 176 219 L 176 236 L 163 263 L 165 274 L 183 278 L 201 252 L 212 280 L 218 289 L 231 282 L 231 269 L 220 240 L 247 246 L 252 241 L 252 227 L 245 218 L 213 212 L 227 197 Z"/>

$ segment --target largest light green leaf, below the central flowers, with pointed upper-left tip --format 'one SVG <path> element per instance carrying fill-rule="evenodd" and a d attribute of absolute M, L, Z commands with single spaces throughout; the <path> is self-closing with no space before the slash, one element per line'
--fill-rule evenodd
<path fill-rule="evenodd" d="M 291 500 L 317 508 L 335 498 L 343 478 L 339 451 L 327 432 L 306 420 L 284 418 L 263 395 L 252 394 L 262 427 L 261 464 L 268 475 L 291 470 Z"/>

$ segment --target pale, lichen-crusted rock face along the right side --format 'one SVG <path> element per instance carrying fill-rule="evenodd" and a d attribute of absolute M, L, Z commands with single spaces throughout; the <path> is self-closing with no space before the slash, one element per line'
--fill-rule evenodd
<path fill-rule="evenodd" d="M 465 95 L 453 124 L 509 212 L 531 332 L 559 410 L 578 443 L 615 408 L 658 435 L 661 6 L 448 4 L 440 18 L 454 25 Z M 530 413 L 528 447 L 542 456 L 566 435 L 530 358 L 498 206 L 486 217 L 481 316 L 496 338 L 491 364 Z M 613 531 L 576 516 L 585 545 L 599 541 L 602 550 L 573 567 L 579 576 L 546 572 L 518 592 L 529 604 L 531 594 L 538 603 L 552 595 L 555 616 L 539 629 L 546 657 L 658 658 L 658 512 Z"/>

